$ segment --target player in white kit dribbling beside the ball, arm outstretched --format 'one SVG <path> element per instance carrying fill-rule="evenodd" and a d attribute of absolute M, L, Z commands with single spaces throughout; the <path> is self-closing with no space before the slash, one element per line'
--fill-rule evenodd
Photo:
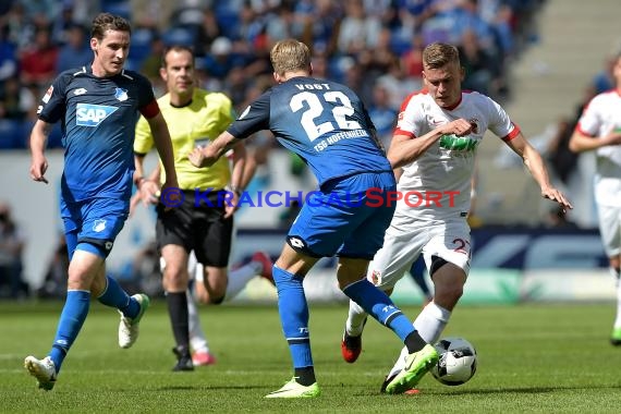
<path fill-rule="evenodd" d="M 403 168 L 398 191 L 404 195 L 386 232 L 367 278 L 387 293 L 423 255 L 434 282 L 434 301 L 423 308 L 414 326 L 435 343 L 463 293 L 470 270 L 471 238 L 466 216 L 475 155 L 486 131 L 514 150 L 541 188 L 541 196 L 572 208 L 550 184 L 540 155 L 524 138 L 507 112 L 489 97 L 462 92 L 464 70 L 455 47 L 431 44 L 423 53 L 425 89 L 410 95 L 401 111 L 388 158 Z M 366 313 L 350 301 L 341 344 L 343 358 L 353 363 L 362 350 Z M 403 369 L 403 353 L 381 390 Z"/>

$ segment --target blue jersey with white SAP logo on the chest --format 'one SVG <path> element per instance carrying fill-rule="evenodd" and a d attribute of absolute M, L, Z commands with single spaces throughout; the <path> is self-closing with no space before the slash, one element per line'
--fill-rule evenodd
<path fill-rule="evenodd" d="M 139 109 L 155 102 L 150 83 L 132 71 L 97 77 L 90 68 L 61 73 L 39 107 L 39 119 L 61 122 L 62 195 L 68 202 L 130 197 Z"/>

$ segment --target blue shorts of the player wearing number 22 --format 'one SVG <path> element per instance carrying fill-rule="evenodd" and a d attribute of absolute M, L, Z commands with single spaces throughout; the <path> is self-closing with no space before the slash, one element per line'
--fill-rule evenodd
<path fill-rule="evenodd" d="M 287 242 L 313 257 L 370 260 L 394 214 L 395 203 L 388 200 L 387 193 L 395 190 L 392 171 L 330 180 L 306 197 Z"/>

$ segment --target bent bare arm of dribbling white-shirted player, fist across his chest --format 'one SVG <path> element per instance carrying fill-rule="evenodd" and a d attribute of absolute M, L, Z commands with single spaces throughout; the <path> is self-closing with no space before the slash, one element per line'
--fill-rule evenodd
<path fill-rule="evenodd" d="M 421 157 L 431 145 L 442 135 L 454 134 L 456 136 L 467 135 L 472 132 L 473 125 L 463 118 L 440 125 L 425 135 L 414 137 L 413 134 L 398 132 L 392 136 L 390 148 L 388 149 L 388 160 L 392 169 L 403 167 Z"/>

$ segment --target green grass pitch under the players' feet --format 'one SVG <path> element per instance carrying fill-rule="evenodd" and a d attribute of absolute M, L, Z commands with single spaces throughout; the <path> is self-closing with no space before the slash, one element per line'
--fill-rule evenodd
<path fill-rule="evenodd" d="M 218 363 L 172 373 L 166 304 L 157 300 L 130 350 L 117 344 L 115 310 L 93 303 L 56 388 L 36 389 L 23 368 L 42 357 L 62 304 L 0 303 L 0 412 L 11 413 L 619 413 L 621 348 L 608 342 L 614 313 L 606 304 L 458 307 L 445 336 L 470 340 L 478 370 L 447 387 L 427 375 L 417 395 L 379 387 L 401 344 L 369 321 L 355 364 L 340 355 L 346 307 L 312 305 L 310 332 L 322 395 L 268 400 L 292 376 L 275 304 L 202 307 Z M 404 307 L 413 317 L 417 307 Z"/>

